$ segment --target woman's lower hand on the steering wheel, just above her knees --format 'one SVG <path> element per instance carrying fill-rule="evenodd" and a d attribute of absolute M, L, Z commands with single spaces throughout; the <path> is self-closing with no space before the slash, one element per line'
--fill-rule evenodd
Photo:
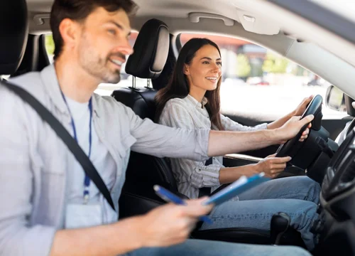
<path fill-rule="evenodd" d="M 286 168 L 286 163 L 291 160 L 290 156 L 275 157 L 276 154 L 267 156 L 256 164 L 258 173 L 264 172 L 265 176 L 275 178 L 281 171 Z"/>

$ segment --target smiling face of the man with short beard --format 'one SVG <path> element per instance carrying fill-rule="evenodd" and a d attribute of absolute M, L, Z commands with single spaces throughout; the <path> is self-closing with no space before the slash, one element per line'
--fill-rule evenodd
<path fill-rule="evenodd" d="M 119 82 L 121 65 L 126 55 L 133 53 L 126 12 L 108 12 L 99 7 L 87 16 L 80 29 L 76 50 L 81 67 L 99 82 Z"/>

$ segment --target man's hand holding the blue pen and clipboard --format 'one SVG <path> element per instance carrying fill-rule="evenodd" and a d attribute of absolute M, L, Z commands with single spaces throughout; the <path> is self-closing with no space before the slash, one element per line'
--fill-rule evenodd
<path fill-rule="evenodd" d="M 202 206 L 207 197 L 189 200 L 187 206 L 168 203 L 141 217 L 144 247 L 175 245 L 184 242 L 195 228 L 197 218 L 206 215 L 213 206 Z"/>

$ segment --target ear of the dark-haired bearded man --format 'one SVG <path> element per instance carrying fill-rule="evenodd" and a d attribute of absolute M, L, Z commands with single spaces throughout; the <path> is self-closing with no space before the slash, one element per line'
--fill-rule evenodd
<path fill-rule="evenodd" d="M 79 29 L 79 24 L 72 21 L 70 18 L 65 18 L 60 22 L 59 32 L 60 36 L 62 36 L 63 48 L 75 48 L 80 33 Z"/>

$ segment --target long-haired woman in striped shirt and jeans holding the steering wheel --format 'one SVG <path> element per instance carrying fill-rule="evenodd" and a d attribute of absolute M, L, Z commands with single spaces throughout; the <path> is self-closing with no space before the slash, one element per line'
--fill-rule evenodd
<path fill-rule="evenodd" d="M 303 100 L 293 113 L 271 124 L 245 127 L 219 113 L 221 75 L 222 58 L 218 46 L 206 38 L 192 38 L 180 51 L 169 85 L 160 90 L 155 98 L 158 104 L 156 121 L 170 127 L 187 129 L 275 129 L 293 115 L 302 114 L 312 99 L 309 97 Z M 302 134 L 301 140 L 306 137 L 307 132 Z M 212 163 L 171 159 L 180 193 L 189 198 L 197 198 L 204 188 L 212 188 L 210 191 L 214 191 L 224 183 L 236 181 L 241 175 L 251 176 L 261 171 L 273 177 L 283 171 L 286 162 L 290 161 L 290 157 L 271 156 L 258 164 L 225 168 L 222 159 L 222 156 L 215 157 Z M 268 230 L 272 214 L 284 211 L 293 216 L 294 228 L 300 231 L 307 246 L 312 247 L 309 228 L 316 216 L 319 194 L 319 184 L 305 176 L 268 181 L 239 195 L 241 201 L 229 201 L 214 208 L 214 224 L 204 223 L 202 229 L 239 226 Z"/>

